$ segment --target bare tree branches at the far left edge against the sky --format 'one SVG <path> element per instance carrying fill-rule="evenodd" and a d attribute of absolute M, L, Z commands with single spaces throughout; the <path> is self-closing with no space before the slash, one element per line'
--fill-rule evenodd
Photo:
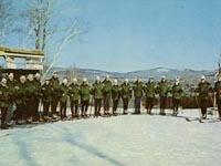
<path fill-rule="evenodd" d="M 0 0 L 0 44 L 6 40 L 10 32 L 10 27 L 13 21 L 11 0 Z"/>

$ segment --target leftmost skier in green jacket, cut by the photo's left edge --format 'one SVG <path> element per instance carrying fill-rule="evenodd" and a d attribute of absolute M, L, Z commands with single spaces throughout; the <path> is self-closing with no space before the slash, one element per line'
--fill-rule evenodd
<path fill-rule="evenodd" d="M 7 80 L 4 77 L 2 77 L 1 83 L 0 83 L 0 110 L 1 110 L 1 128 L 2 129 L 7 129 L 7 110 L 9 106 L 9 91 L 8 91 L 8 86 L 7 86 Z"/>

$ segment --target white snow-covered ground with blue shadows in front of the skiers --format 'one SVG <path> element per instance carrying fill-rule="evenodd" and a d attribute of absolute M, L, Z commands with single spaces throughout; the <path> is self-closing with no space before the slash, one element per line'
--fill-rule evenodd
<path fill-rule="evenodd" d="M 0 165 L 220 166 L 221 123 L 122 115 L 1 129 Z"/>

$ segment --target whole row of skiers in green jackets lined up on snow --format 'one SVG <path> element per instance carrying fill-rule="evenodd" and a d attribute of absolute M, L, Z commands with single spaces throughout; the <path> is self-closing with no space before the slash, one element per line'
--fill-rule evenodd
<path fill-rule="evenodd" d="M 128 79 L 125 79 L 124 83 L 119 84 L 117 79 L 112 82 L 109 75 L 106 75 L 104 81 L 96 76 L 95 82 L 90 85 L 86 77 L 82 80 L 81 84 L 77 79 L 73 79 L 71 84 L 67 83 L 66 79 L 60 83 L 57 72 L 54 72 L 52 77 L 46 79 L 43 84 L 41 84 L 39 73 L 35 75 L 29 74 L 28 76 L 21 75 L 18 81 L 14 80 L 13 73 L 10 73 L 8 77 L 2 77 L 0 82 L 1 128 L 8 128 L 11 117 L 14 118 L 17 124 L 48 121 L 50 118 L 66 120 L 67 100 L 70 100 L 72 118 L 78 118 L 80 116 L 85 118 L 88 115 L 90 103 L 94 104 L 94 117 L 102 115 L 102 104 L 104 116 L 118 115 L 117 107 L 120 98 L 123 101 L 123 114 L 127 114 L 128 103 L 133 95 L 135 100 L 134 114 L 140 114 L 144 96 L 146 111 L 148 114 L 151 114 L 156 94 L 159 94 L 159 114 L 166 115 L 167 96 L 168 93 L 171 93 L 173 103 L 172 115 L 177 116 L 182 92 L 179 76 L 176 76 L 172 86 L 169 85 L 166 76 L 161 76 L 161 81 L 158 83 L 150 76 L 146 83 L 138 77 L 135 83 L 129 83 Z M 215 92 L 219 115 L 221 117 L 220 75 L 214 87 L 202 75 L 196 89 L 196 93 L 199 94 L 202 118 L 207 117 L 208 94 L 210 92 Z M 112 112 L 109 110 L 110 102 L 113 103 Z M 43 104 L 43 113 L 41 115 L 39 111 L 40 103 Z M 60 112 L 56 111 L 59 103 Z"/>

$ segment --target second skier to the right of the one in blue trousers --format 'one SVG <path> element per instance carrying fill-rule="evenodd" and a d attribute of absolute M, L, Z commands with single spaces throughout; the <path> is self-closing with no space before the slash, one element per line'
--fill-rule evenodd
<path fill-rule="evenodd" d="M 157 86 L 157 92 L 159 93 L 160 97 L 160 115 L 166 115 L 165 108 L 167 106 L 167 94 L 170 92 L 170 86 L 167 82 L 166 76 L 161 76 L 161 81 Z"/>

